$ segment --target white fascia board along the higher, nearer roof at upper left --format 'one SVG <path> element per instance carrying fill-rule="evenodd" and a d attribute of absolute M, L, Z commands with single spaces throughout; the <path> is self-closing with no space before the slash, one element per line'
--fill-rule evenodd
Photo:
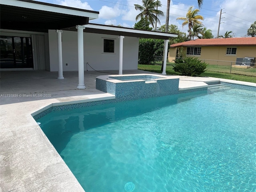
<path fill-rule="evenodd" d="M 35 10 L 41 10 L 41 11 L 62 13 L 62 14 L 68 14 L 68 15 L 74 15 L 74 16 L 88 17 L 89 20 L 98 19 L 97 13 L 86 12 L 86 10 L 85 11 L 72 10 L 72 9 L 68 9 L 68 7 L 61 8 L 61 7 L 37 4 L 36 2 L 31 3 L 31 2 L 24 2 L 24 1 L 17 1 L 17 0 L 1 0 L 1 4 L 22 7 L 22 8 L 35 9 Z"/>

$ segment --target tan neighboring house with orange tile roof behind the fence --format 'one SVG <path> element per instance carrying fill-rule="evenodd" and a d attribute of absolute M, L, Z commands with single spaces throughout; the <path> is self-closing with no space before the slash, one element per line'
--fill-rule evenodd
<path fill-rule="evenodd" d="M 256 37 L 196 39 L 172 44 L 169 60 L 179 56 L 198 57 L 209 64 L 235 65 L 237 58 L 256 58 Z"/>

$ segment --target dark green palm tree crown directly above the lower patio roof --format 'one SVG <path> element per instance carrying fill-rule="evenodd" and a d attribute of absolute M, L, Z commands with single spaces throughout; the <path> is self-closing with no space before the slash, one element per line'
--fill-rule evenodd
<path fill-rule="evenodd" d="M 142 6 L 138 4 L 134 4 L 136 10 L 140 10 L 141 13 L 136 16 L 136 21 L 141 18 L 145 18 L 150 22 L 150 24 L 154 27 L 154 23 L 158 22 L 160 24 L 160 20 L 157 18 L 158 16 L 164 16 L 164 12 L 157 10 L 157 7 L 161 7 L 162 4 L 160 1 L 155 0 L 142 0 Z"/>

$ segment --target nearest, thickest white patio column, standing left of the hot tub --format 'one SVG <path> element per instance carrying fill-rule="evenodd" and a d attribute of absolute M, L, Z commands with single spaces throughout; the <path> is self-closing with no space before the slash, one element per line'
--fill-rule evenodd
<path fill-rule="evenodd" d="M 77 25 L 78 36 L 78 89 L 85 89 L 84 86 L 84 29 L 85 26 Z"/>

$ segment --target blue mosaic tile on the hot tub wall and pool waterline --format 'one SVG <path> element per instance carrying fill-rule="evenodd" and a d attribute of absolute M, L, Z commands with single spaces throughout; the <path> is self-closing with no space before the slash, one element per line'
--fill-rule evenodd
<path fill-rule="evenodd" d="M 174 95 L 174 94 L 184 94 L 184 93 L 207 90 L 207 88 L 196 88 L 196 89 L 178 91 L 179 80 L 178 79 L 169 79 L 169 80 L 159 81 L 161 82 L 160 84 L 159 83 L 145 84 L 145 82 L 128 82 L 128 83 L 125 82 L 124 84 L 122 83 L 115 84 L 112 82 L 106 82 L 104 80 L 99 79 L 98 86 L 100 86 L 100 88 L 105 88 L 106 92 L 108 91 L 108 92 L 111 92 L 111 94 L 113 93 L 117 94 L 118 97 L 116 96 L 116 99 L 86 102 L 86 103 L 79 103 L 79 104 L 69 104 L 69 105 L 62 105 L 62 106 L 53 106 L 33 116 L 33 118 L 35 120 L 38 120 L 52 111 L 69 110 L 74 108 L 109 104 L 109 103 L 115 103 L 115 102 L 123 102 L 128 100 L 159 97 L 159 96 Z M 139 83 L 139 84 L 136 84 L 136 83 Z M 142 84 L 143 86 L 141 86 Z M 254 86 L 247 86 L 247 85 L 240 85 L 240 84 L 233 84 L 233 83 L 226 83 L 226 82 L 221 82 L 221 84 L 232 86 L 235 88 L 256 91 L 256 87 Z M 125 96 L 125 94 L 128 94 L 128 95 Z"/>

